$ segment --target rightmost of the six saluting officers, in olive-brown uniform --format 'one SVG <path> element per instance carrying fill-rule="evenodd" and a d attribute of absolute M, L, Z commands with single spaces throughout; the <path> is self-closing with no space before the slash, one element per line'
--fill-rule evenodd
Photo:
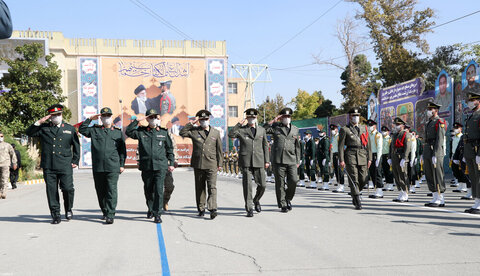
<path fill-rule="evenodd" d="M 283 213 L 292 210 L 292 199 L 298 181 L 297 168 L 300 164 L 300 141 L 298 128 L 291 124 L 292 109 L 286 107 L 266 125 L 267 134 L 274 138 L 272 165 L 275 174 L 275 193 L 278 207 Z M 280 120 L 280 122 L 277 122 Z M 285 178 L 287 188 L 285 189 Z"/>

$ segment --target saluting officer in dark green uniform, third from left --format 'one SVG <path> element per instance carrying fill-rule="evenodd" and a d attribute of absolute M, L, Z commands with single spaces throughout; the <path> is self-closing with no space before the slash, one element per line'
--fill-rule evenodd
<path fill-rule="evenodd" d="M 167 170 L 175 169 L 173 145 L 167 129 L 160 127 L 158 112 L 150 108 L 146 111 L 148 126 L 138 126 L 145 117 L 132 121 L 125 134 L 138 140 L 140 155 L 139 169 L 142 171 L 143 190 L 148 207 L 147 218 L 154 217 L 155 223 L 162 223 L 163 185 Z"/>

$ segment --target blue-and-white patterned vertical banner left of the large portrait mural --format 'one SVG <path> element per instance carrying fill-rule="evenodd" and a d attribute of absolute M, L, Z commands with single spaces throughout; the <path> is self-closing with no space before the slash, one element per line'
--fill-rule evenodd
<path fill-rule="evenodd" d="M 97 58 L 79 58 L 79 92 L 78 102 L 78 118 L 85 121 L 92 115 L 98 114 L 99 111 L 99 66 Z M 90 138 L 82 135 L 80 139 L 82 149 L 80 158 L 81 168 L 92 167 L 92 153 L 90 151 Z"/>

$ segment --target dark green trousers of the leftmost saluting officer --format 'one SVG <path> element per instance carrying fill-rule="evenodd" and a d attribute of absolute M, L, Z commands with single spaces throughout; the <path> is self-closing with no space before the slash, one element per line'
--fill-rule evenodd
<path fill-rule="evenodd" d="M 53 218 L 60 216 L 60 195 L 58 186 L 63 194 L 63 206 L 66 211 L 71 211 L 75 189 L 73 188 L 73 173 L 57 172 L 50 169 L 43 170 L 43 179 L 47 188 L 47 201 L 50 214 Z"/>

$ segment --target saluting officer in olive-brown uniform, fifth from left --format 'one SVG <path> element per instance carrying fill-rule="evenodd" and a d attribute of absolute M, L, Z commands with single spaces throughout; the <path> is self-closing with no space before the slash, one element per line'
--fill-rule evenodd
<path fill-rule="evenodd" d="M 246 118 L 236 124 L 228 134 L 230 138 L 237 138 L 240 141 L 240 170 L 242 171 L 243 197 L 247 217 L 253 217 L 255 211 L 262 211 L 260 199 L 265 192 L 265 169 L 270 166 L 268 141 L 265 129 L 257 125 L 258 110 L 249 108 L 245 110 Z M 247 120 L 247 124 L 243 125 Z M 253 197 L 252 175 L 257 183 L 257 191 Z"/>

